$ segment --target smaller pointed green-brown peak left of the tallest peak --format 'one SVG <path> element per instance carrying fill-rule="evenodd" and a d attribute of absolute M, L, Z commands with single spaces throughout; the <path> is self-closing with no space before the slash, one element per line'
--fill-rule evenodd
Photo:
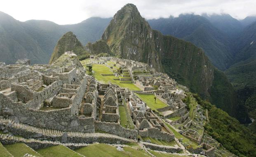
<path fill-rule="evenodd" d="M 73 51 L 77 55 L 85 55 L 88 53 L 73 32 L 67 32 L 57 42 L 52 52 L 49 64 L 52 64 L 57 60 L 65 51 Z"/>

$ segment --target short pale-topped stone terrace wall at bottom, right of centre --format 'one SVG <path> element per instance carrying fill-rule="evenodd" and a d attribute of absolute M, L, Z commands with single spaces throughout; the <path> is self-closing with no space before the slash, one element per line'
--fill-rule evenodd
<path fill-rule="evenodd" d="M 166 146 L 166 145 L 156 145 L 153 143 L 147 143 L 147 142 L 141 142 L 143 145 L 146 146 L 146 148 L 150 148 L 151 150 L 158 150 L 158 151 L 163 151 L 163 152 L 179 152 L 182 149 L 179 147 L 171 147 L 171 146 Z"/>

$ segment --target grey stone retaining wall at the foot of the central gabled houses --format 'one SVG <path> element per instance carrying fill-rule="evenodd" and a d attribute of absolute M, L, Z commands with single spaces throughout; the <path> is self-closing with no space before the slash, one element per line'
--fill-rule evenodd
<path fill-rule="evenodd" d="M 104 132 L 108 132 L 110 134 L 125 137 L 128 139 L 137 140 L 138 137 L 137 130 L 126 129 L 117 123 L 95 121 L 94 126 L 96 130 L 102 130 Z"/>

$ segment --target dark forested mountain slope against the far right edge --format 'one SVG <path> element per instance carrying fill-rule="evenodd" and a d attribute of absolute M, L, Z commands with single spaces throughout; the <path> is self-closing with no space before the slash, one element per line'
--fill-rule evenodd
<path fill-rule="evenodd" d="M 251 118 L 256 119 L 256 22 L 244 28 L 235 45 L 235 60 L 225 73 L 247 106 Z"/>

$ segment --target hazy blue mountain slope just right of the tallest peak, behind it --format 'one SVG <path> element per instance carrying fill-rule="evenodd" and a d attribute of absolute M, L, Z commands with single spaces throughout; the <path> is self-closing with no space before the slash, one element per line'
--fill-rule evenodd
<path fill-rule="evenodd" d="M 148 23 L 164 35 L 173 35 L 201 47 L 218 69 L 225 70 L 233 61 L 228 37 L 202 16 L 181 14 L 177 18 L 148 20 Z"/>

